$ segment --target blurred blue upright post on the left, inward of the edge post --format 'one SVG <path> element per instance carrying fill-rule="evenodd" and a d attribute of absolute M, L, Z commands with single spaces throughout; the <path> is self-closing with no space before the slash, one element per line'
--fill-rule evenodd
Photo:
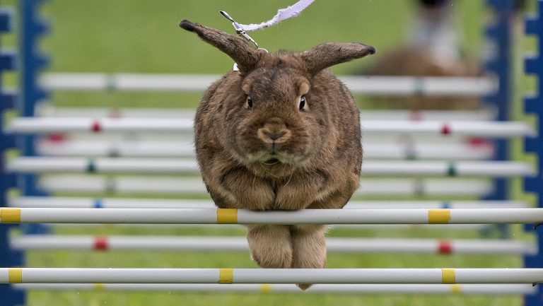
<path fill-rule="evenodd" d="M 47 65 L 48 59 L 38 51 L 40 38 L 47 33 L 48 27 L 39 16 L 40 6 L 44 0 L 21 0 L 21 104 L 19 114 L 23 117 L 33 117 L 38 102 L 45 100 L 47 95 L 37 85 L 40 71 Z M 18 148 L 21 155 L 35 155 L 35 136 L 20 136 Z M 45 195 L 37 188 L 35 175 L 18 175 L 18 187 L 25 196 Z M 28 225 L 25 231 L 31 233 L 45 233 L 44 225 Z"/>

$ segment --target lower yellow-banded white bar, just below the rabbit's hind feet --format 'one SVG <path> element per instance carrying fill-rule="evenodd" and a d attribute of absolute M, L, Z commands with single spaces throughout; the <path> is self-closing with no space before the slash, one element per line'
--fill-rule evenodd
<path fill-rule="evenodd" d="M 543 269 L 0 268 L 0 283 L 541 283 Z"/>

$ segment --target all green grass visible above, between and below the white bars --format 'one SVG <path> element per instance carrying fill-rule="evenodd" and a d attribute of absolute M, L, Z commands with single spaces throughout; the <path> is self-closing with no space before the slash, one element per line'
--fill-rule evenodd
<path fill-rule="evenodd" d="M 16 0 L 4 1 L 16 4 Z M 278 8 L 294 0 L 78 0 L 49 1 L 43 7 L 52 33 L 41 49 L 52 59 L 51 71 L 134 73 L 225 73 L 232 61 L 178 28 L 189 19 L 232 33 L 230 23 L 219 10 L 242 23 L 268 20 Z M 363 42 L 378 53 L 372 57 L 335 66 L 338 74 L 356 71 L 406 42 L 414 22 L 414 1 L 342 0 L 315 1 L 298 18 L 286 20 L 251 36 L 261 47 L 303 50 L 322 42 Z M 455 1 L 462 51 L 481 57 L 482 25 L 488 17 L 482 0 Z M 16 37 L 13 38 L 13 41 Z M 522 41 L 523 47 L 530 42 Z M 519 91 L 519 90 L 517 90 Z M 183 93 L 54 93 L 57 106 L 81 107 L 195 107 L 200 95 Z M 361 107 L 364 107 L 362 104 Z M 181 228 L 69 227 L 62 234 L 99 235 L 244 235 L 243 228 L 213 230 Z M 515 235 L 521 230 L 515 228 Z M 332 230 L 329 236 L 349 237 L 436 237 L 476 238 L 476 231 L 424 231 L 413 228 L 390 230 Z M 256 267 L 249 255 L 239 252 L 30 252 L 28 266 L 70 267 Z M 406 254 L 329 254 L 330 268 L 433 268 L 433 267 L 520 267 L 519 257 L 434 256 Z M 426 296 L 426 295 L 310 295 L 310 294 L 224 294 L 224 293 L 30 293 L 28 305 L 521 305 L 519 297 Z"/>

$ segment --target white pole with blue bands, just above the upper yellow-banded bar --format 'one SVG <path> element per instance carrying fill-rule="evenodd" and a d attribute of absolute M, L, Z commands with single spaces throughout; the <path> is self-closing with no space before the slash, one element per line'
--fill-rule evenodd
<path fill-rule="evenodd" d="M 84 198 L 62 196 L 18 196 L 7 199 L 7 206 L 34 208 L 215 208 L 203 199 Z M 528 208 L 522 201 L 349 201 L 350 208 Z"/>

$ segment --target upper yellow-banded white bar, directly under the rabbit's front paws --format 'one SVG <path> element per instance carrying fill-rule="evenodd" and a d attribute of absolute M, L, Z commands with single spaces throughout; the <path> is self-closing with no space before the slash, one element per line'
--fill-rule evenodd
<path fill-rule="evenodd" d="M 149 224 L 494 224 L 543 223 L 543 208 L 237 209 L 0 208 L 0 223 Z"/>

